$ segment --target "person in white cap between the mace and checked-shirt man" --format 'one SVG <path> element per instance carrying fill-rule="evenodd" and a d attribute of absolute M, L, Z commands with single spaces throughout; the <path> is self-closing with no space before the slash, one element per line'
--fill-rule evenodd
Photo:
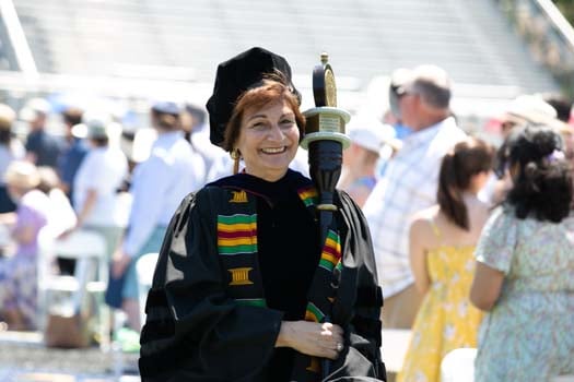
<path fill-rule="evenodd" d="M 379 153 L 387 142 L 391 142 L 395 131 L 376 119 L 353 117 L 347 132 L 351 144 L 343 151 L 343 168 L 338 187 L 362 207 L 376 183 L 375 166 Z"/>

